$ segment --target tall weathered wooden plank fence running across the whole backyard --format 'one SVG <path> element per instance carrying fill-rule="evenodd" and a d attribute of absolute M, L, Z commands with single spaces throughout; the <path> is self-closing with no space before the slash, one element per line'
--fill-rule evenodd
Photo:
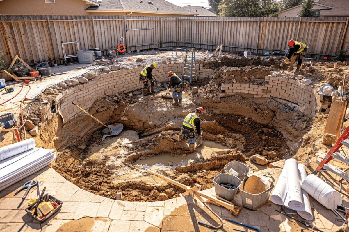
<path fill-rule="evenodd" d="M 18 54 L 30 64 L 62 63 L 61 42 L 81 49 L 115 49 L 123 37 L 127 52 L 157 47 L 196 47 L 265 53 L 284 51 L 295 39 L 312 57 L 333 56 L 349 48 L 349 17 L 142 17 L 0 16 L 0 51 L 6 63 Z M 66 53 L 76 54 L 73 45 Z"/>

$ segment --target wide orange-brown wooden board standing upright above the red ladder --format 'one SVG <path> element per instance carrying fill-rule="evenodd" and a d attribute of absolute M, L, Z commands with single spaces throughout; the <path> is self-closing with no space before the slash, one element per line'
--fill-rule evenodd
<path fill-rule="evenodd" d="M 336 135 L 341 134 L 344 115 L 347 109 L 347 100 L 341 101 L 339 98 L 333 98 L 329 110 L 328 119 L 325 127 L 325 133 Z"/>

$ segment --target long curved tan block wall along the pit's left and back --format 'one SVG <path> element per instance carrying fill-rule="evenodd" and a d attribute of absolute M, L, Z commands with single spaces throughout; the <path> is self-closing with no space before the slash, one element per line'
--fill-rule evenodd
<path fill-rule="evenodd" d="M 143 67 L 137 67 L 128 70 L 119 70 L 110 73 L 98 75 L 96 79 L 88 83 L 75 86 L 60 93 L 56 97 L 58 112 L 63 118 L 64 123 L 73 119 L 82 112 L 72 103 L 76 103 L 83 109 L 88 110 L 91 105 L 101 97 L 113 95 L 115 93 L 127 93 L 136 89 L 143 88 L 143 83 L 139 82 L 139 75 Z M 181 77 L 183 63 L 158 65 L 153 70 L 153 75 L 158 82 L 169 82 L 167 73 L 175 72 Z M 197 67 L 198 78 L 209 77 L 213 75 L 214 70 Z"/>

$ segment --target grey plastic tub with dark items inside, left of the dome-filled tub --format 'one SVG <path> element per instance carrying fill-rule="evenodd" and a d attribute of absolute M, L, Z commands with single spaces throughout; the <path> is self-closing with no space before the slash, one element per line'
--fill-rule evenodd
<path fill-rule="evenodd" d="M 226 173 L 220 173 L 215 178 L 213 178 L 213 183 L 215 185 L 216 195 L 220 196 L 221 198 L 224 198 L 225 200 L 231 201 L 232 199 L 234 199 L 236 193 L 239 190 L 241 180 L 236 176 Z M 236 188 L 229 190 L 221 186 L 220 184 L 231 184 L 235 185 Z"/>

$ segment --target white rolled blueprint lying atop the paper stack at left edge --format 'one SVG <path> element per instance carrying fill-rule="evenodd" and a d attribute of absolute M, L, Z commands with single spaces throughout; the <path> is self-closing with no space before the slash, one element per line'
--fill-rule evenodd
<path fill-rule="evenodd" d="M 34 138 L 26 139 L 18 143 L 0 147 L 0 160 L 10 158 L 35 147 Z"/>

